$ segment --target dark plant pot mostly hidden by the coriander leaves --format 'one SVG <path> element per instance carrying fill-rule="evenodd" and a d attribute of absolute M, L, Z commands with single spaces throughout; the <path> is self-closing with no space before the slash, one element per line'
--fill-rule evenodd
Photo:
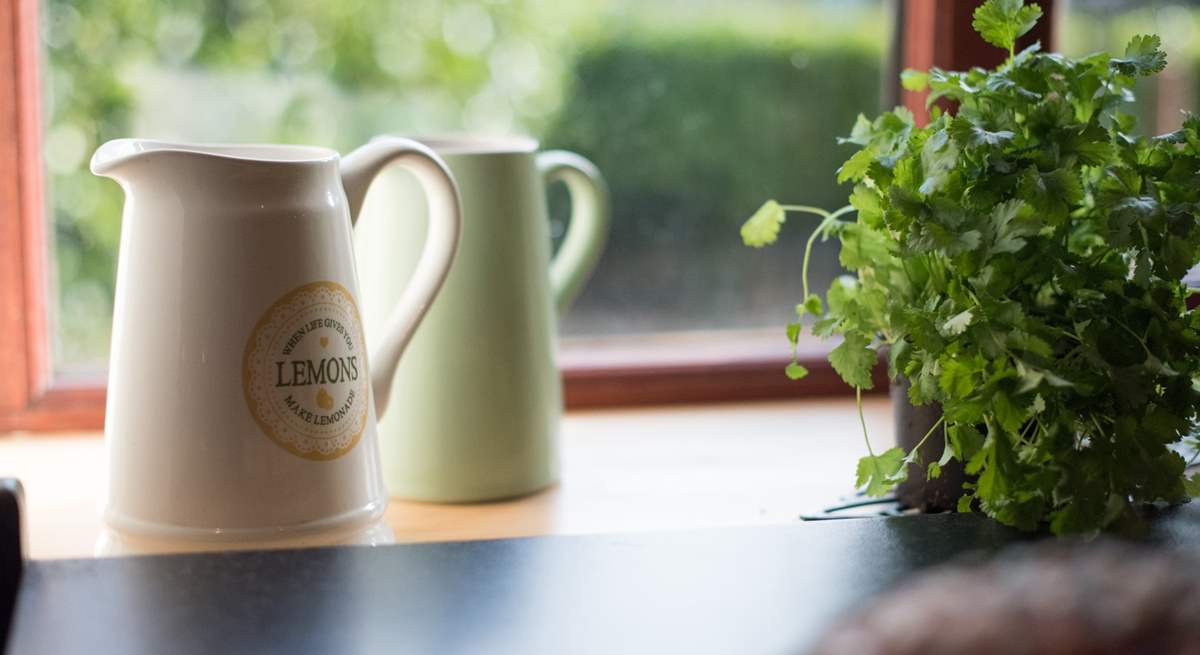
<path fill-rule="evenodd" d="M 942 417 L 942 405 L 930 403 L 913 407 L 908 402 L 908 379 L 900 377 L 892 383 L 892 411 L 895 416 L 896 445 L 911 451 L 920 443 L 922 437 Z M 942 467 L 942 474 L 926 480 L 926 467 L 930 462 L 942 458 L 944 440 L 941 434 L 931 434 L 920 446 L 920 465 L 910 464 L 908 479 L 896 485 L 896 498 L 908 507 L 923 512 L 940 512 L 958 507 L 962 495 L 962 482 L 967 475 L 962 463 L 950 459 Z"/>

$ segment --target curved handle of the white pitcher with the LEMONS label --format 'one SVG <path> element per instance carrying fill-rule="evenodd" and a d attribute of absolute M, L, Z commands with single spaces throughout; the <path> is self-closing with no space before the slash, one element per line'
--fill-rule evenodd
<path fill-rule="evenodd" d="M 377 417 L 383 416 L 388 407 L 400 356 L 450 272 L 462 232 L 458 187 L 445 162 L 425 145 L 398 137 L 372 140 L 342 157 L 342 186 L 346 188 L 352 226 L 358 223 L 371 181 L 390 163 L 407 168 L 425 190 L 430 228 L 416 270 L 388 317 L 383 339 L 371 353 L 368 365 Z"/>

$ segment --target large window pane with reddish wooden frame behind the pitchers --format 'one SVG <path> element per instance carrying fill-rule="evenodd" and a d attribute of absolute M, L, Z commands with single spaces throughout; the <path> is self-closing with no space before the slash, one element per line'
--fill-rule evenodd
<path fill-rule="evenodd" d="M 0 116 L 20 139 L 0 167 L 23 193 L 0 226 L 22 256 L 2 289 L 24 337 L 4 356 L 26 374 L 0 409 L 98 427 L 122 198 L 86 161 L 130 134 L 347 151 L 379 133 L 532 133 L 594 160 L 613 192 L 608 248 L 562 324 L 569 404 L 840 390 L 781 375 L 806 230 L 750 251 L 738 227 L 770 197 L 841 205 L 835 137 L 893 103 L 893 50 L 953 65 L 935 35 L 964 29 L 964 5 L 14 0 Z M 551 210 L 560 234 L 560 190 Z M 820 250 L 812 283 L 838 272 Z"/>

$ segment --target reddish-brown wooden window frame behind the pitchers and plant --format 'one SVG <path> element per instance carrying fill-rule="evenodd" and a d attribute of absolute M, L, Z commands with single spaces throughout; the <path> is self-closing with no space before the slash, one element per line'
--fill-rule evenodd
<path fill-rule="evenodd" d="M 971 30 L 976 2 L 892 2 L 901 40 L 894 52 L 901 53 L 902 67 L 994 62 L 995 49 Z M 1054 4 L 1042 4 L 1051 16 L 1031 38 L 1051 43 Z M 56 377 L 49 343 L 37 5 L 37 0 L 0 4 L 0 432 L 98 429 L 104 421 L 103 381 Z M 894 77 L 899 68 L 887 73 Z M 919 120 L 925 116 L 923 96 L 905 92 L 902 100 Z M 824 345 L 802 348 L 800 362 L 810 371 L 803 383 L 782 374 L 786 343 L 748 345 L 736 338 L 703 355 L 688 347 L 636 343 L 601 355 L 568 348 L 560 363 L 566 405 L 577 409 L 847 393 L 826 353 Z M 882 367 L 875 373 L 876 390 L 886 390 Z"/>

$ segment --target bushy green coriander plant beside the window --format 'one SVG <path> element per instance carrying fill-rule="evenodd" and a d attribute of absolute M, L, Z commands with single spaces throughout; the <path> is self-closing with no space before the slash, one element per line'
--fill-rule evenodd
<path fill-rule="evenodd" d="M 762 247 L 788 215 L 816 216 L 788 338 L 808 320 L 840 338 L 829 362 L 859 413 L 884 353 L 913 405 L 941 408 L 910 447 L 874 447 L 864 423 L 868 494 L 956 462 L 970 476 L 960 511 L 1094 533 L 1200 491 L 1177 451 L 1200 409 L 1200 313 L 1181 282 L 1200 260 L 1200 118 L 1138 136 L 1124 109 L 1166 65 L 1158 37 L 1135 36 L 1123 56 L 1015 52 L 1039 17 L 1021 0 L 983 4 L 973 26 L 1003 64 L 905 71 L 906 89 L 929 90 L 929 124 L 905 108 L 859 115 L 838 172 L 850 204 L 769 200 L 742 238 Z M 853 272 L 824 299 L 808 287 L 817 239 L 836 239 Z M 930 443 L 941 458 L 923 457 Z"/>

